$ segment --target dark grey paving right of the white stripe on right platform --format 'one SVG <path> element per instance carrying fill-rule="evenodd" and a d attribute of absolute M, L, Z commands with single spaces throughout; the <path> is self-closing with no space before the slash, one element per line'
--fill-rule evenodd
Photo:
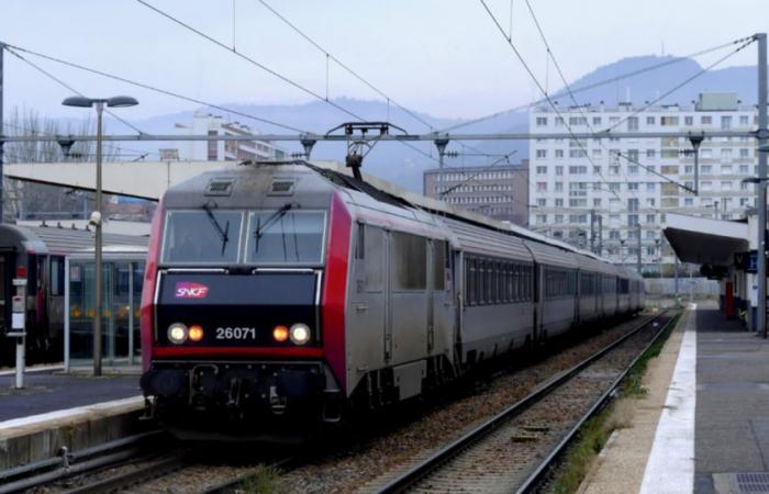
<path fill-rule="evenodd" d="M 739 492 L 734 474 L 769 472 L 769 341 L 715 307 L 695 314 L 694 491 Z"/>

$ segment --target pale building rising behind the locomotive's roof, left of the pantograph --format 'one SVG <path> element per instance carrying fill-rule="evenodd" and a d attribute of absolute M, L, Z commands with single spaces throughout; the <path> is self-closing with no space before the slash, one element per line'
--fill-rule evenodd
<path fill-rule="evenodd" d="M 246 124 L 201 112 L 194 114 L 191 123 L 175 124 L 175 131 L 212 136 L 258 134 Z M 286 158 L 286 151 L 268 141 L 179 141 L 175 146 L 160 149 L 160 159 L 243 161 Z"/>

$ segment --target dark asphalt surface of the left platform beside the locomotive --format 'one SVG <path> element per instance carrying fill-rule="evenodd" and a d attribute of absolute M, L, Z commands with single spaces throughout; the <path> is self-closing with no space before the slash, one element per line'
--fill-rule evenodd
<path fill-rule="evenodd" d="M 142 394 L 135 375 L 93 378 L 29 373 L 26 388 L 14 390 L 14 375 L 0 375 L 0 422 Z"/>

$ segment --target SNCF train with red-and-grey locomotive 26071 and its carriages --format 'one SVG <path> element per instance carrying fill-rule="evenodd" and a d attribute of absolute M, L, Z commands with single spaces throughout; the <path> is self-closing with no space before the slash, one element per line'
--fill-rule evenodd
<path fill-rule="evenodd" d="M 347 171 L 253 162 L 167 190 L 141 308 L 149 416 L 180 437 L 312 433 L 644 306 L 635 272 Z"/>

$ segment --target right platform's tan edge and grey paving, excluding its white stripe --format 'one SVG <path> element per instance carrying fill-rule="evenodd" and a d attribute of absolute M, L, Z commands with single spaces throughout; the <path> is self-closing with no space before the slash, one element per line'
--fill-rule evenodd
<path fill-rule="evenodd" d="M 582 493 L 638 492 L 650 441 L 658 431 L 683 329 L 696 332 L 693 492 L 769 492 L 769 340 L 727 321 L 714 302 L 687 311 L 644 381 L 649 394 L 633 407 L 629 427 L 615 431 Z M 670 452 L 672 453 L 672 452 Z M 673 472 L 675 473 L 675 472 Z M 658 492 L 671 491 L 659 485 Z"/>

